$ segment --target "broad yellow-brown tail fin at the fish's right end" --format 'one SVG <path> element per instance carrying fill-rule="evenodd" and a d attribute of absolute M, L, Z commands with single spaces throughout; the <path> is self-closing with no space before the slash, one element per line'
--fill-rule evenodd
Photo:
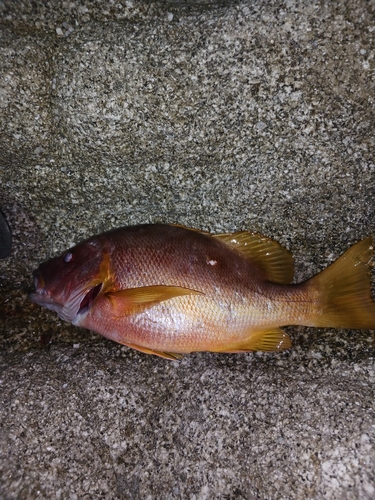
<path fill-rule="evenodd" d="M 375 329 L 375 302 L 371 298 L 371 237 L 353 245 L 306 285 L 318 294 L 314 326 Z"/>

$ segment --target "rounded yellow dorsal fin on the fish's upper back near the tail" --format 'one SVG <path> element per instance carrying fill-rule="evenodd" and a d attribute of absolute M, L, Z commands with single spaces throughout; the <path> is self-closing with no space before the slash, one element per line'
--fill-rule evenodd
<path fill-rule="evenodd" d="M 293 279 L 293 256 L 280 243 L 261 234 L 240 231 L 233 234 L 216 234 L 232 248 L 239 250 L 272 283 L 289 284 Z"/>

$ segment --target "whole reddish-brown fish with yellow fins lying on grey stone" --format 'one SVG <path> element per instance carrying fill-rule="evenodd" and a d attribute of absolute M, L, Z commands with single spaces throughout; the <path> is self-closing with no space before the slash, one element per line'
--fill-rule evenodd
<path fill-rule="evenodd" d="M 91 237 L 33 273 L 29 299 L 72 324 L 166 359 L 289 349 L 281 328 L 375 329 L 373 240 L 292 284 L 292 254 L 259 233 L 173 224 Z"/>

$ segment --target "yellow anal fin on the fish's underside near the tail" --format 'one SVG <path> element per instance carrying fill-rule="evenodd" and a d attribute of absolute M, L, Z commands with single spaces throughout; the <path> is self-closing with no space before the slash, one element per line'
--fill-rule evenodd
<path fill-rule="evenodd" d="M 287 333 L 281 328 L 271 328 L 253 332 L 247 339 L 232 344 L 220 352 L 240 353 L 248 351 L 284 351 L 292 347 Z"/>

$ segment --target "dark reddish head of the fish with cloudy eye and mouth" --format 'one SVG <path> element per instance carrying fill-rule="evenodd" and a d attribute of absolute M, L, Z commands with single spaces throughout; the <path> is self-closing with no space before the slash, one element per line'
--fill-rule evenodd
<path fill-rule="evenodd" d="M 43 262 L 33 272 L 31 302 L 76 323 L 111 280 L 109 254 L 98 239 L 87 240 L 59 257 Z"/>

